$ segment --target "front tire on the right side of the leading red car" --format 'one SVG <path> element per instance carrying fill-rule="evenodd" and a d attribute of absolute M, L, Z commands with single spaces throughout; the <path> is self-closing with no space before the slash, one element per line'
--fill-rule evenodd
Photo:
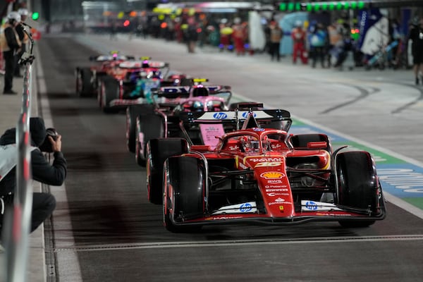
<path fill-rule="evenodd" d="M 384 209 L 383 197 L 376 176 L 374 161 L 369 152 L 352 151 L 336 156 L 337 201 L 344 207 L 368 209 L 377 216 Z M 339 221 L 345 227 L 367 227 L 374 219 L 348 219 Z"/>

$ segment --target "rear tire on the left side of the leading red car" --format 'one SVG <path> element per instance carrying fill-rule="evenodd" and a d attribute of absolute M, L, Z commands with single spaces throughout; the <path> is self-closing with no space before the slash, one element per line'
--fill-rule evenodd
<path fill-rule="evenodd" d="M 188 152 L 183 138 L 157 138 L 147 143 L 147 197 L 153 204 L 163 201 L 163 164 L 168 157 Z"/>

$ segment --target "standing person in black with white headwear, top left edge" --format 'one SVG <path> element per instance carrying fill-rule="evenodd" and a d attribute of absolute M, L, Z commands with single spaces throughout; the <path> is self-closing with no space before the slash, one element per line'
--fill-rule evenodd
<path fill-rule="evenodd" d="M 15 73 L 15 54 L 20 51 L 20 40 L 16 27 L 20 24 L 18 12 L 11 12 L 6 17 L 4 31 L 0 34 L 0 49 L 4 59 L 4 92 L 3 94 L 16 94 L 13 88 L 13 74 Z"/>

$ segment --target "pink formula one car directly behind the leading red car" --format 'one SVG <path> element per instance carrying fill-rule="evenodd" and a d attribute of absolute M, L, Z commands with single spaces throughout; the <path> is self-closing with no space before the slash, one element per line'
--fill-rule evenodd
<path fill-rule="evenodd" d="M 145 145 L 149 139 L 180 136 L 181 112 L 225 111 L 231 96 L 231 88 L 222 85 L 161 87 L 152 93 L 151 104 L 126 109 L 128 150 L 135 152 L 137 163 L 145 166 Z"/>

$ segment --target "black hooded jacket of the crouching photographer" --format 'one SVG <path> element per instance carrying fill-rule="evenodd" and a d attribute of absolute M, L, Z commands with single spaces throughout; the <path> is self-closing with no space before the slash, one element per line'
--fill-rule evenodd
<path fill-rule="evenodd" d="M 31 145 L 39 147 L 47 136 L 42 118 L 30 118 Z M 6 130 L 0 137 L 0 145 L 16 143 L 16 128 Z M 66 159 L 61 152 L 54 152 L 53 164 L 49 164 L 39 149 L 31 151 L 32 179 L 47 185 L 62 185 L 66 178 Z M 16 167 L 0 181 L 0 196 L 13 193 L 16 188 Z"/>

